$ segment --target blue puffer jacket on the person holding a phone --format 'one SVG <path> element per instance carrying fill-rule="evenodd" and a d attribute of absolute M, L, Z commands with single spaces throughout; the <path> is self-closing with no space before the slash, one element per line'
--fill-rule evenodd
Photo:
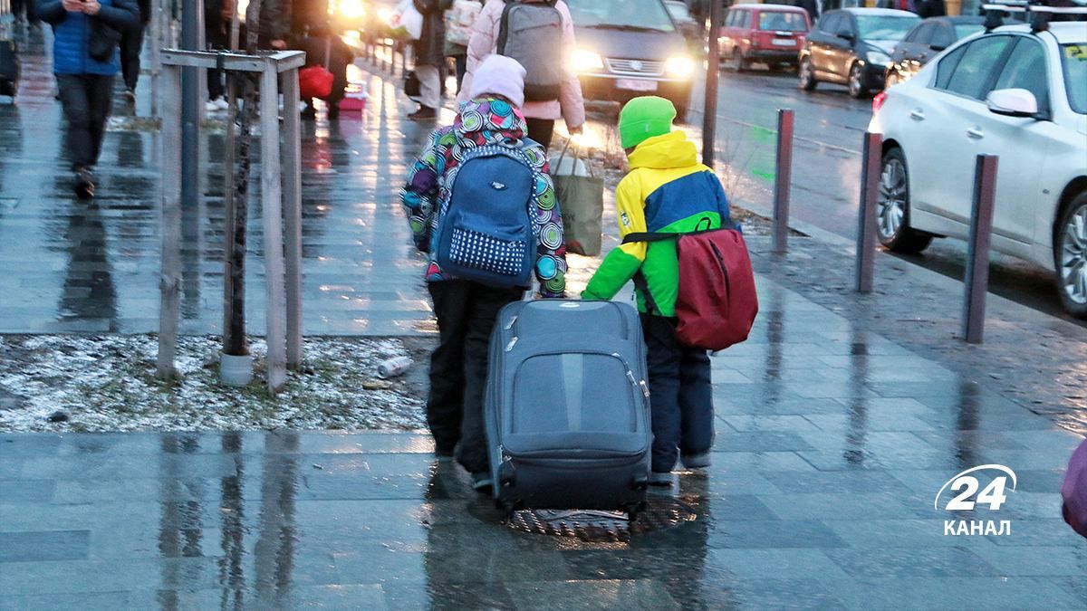
<path fill-rule="evenodd" d="M 87 53 L 95 20 L 124 32 L 138 28 L 139 8 L 135 0 L 98 0 L 102 8 L 95 16 L 70 13 L 61 0 L 39 0 L 38 15 L 53 26 L 53 72 L 55 74 L 115 75 L 121 71 L 116 49 L 109 62 L 95 61 Z"/>

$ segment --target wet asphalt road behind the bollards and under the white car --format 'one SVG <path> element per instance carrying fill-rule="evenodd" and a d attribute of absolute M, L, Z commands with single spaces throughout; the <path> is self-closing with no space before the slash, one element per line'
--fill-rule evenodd
<path fill-rule="evenodd" d="M 700 124 L 704 93 L 696 90 L 688 121 Z M 765 213 L 772 209 L 777 109 L 796 113 L 790 215 L 821 229 L 854 239 L 860 194 L 861 147 L 872 101 L 853 100 L 846 88 L 820 84 L 811 93 L 791 73 L 761 68 L 721 73 L 717 108 L 717 161 L 733 199 Z M 937 239 L 904 261 L 954 278 L 964 275 L 965 242 Z M 1051 273 L 1025 261 L 994 254 L 990 292 L 1046 314 L 1064 314 Z"/>

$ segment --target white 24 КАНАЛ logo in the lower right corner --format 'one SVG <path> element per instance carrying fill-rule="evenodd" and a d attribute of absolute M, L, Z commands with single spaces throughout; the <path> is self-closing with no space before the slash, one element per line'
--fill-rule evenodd
<path fill-rule="evenodd" d="M 983 488 L 977 477 L 971 475 L 976 473 L 994 473 L 992 479 Z M 999 511 L 1000 507 L 1008 500 L 1008 482 L 1011 479 L 1011 491 L 1015 491 L 1019 481 L 1015 472 L 1002 464 L 983 464 L 967 469 L 954 477 L 948 479 L 940 491 L 936 492 L 936 500 L 933 507 L 940 508 L 940 498 L 944 491 L 949 490 L 948 498 L 942 509 L 947 511 L 974 511 L 978 507 L 986 507 L 988 511 Z M 955 494 L 958 492 L 958 494 Z M 1010 535 L 1012 534 L 1012 523 L 1010 520 L 945 520 L 945 535 Z"/>

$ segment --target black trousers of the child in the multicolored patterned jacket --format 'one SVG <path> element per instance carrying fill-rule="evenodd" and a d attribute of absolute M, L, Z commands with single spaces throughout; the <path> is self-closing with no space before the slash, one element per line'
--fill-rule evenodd
<path fill-rule="evenodd" d="M 457 460 L 471 473 L 489 470 L 483 421 L 487 348 L 498 311 L 521 299 L 523 289 L 493 288 L 470 280 L 429 283 L 438 316 L 438 348 L 430 356 L 426 420 L 438 451 L 460 442 Z"/>

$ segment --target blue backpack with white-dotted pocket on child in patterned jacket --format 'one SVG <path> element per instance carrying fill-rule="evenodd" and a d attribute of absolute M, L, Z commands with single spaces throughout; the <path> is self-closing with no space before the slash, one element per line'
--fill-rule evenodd
<path fill-rule="evenodd" d="M 471 149 L 449 178 L 438 221 L 438 266 L 491 286 L 532 286 L 536 176 L 525 153 L 503 145 Z"/>

